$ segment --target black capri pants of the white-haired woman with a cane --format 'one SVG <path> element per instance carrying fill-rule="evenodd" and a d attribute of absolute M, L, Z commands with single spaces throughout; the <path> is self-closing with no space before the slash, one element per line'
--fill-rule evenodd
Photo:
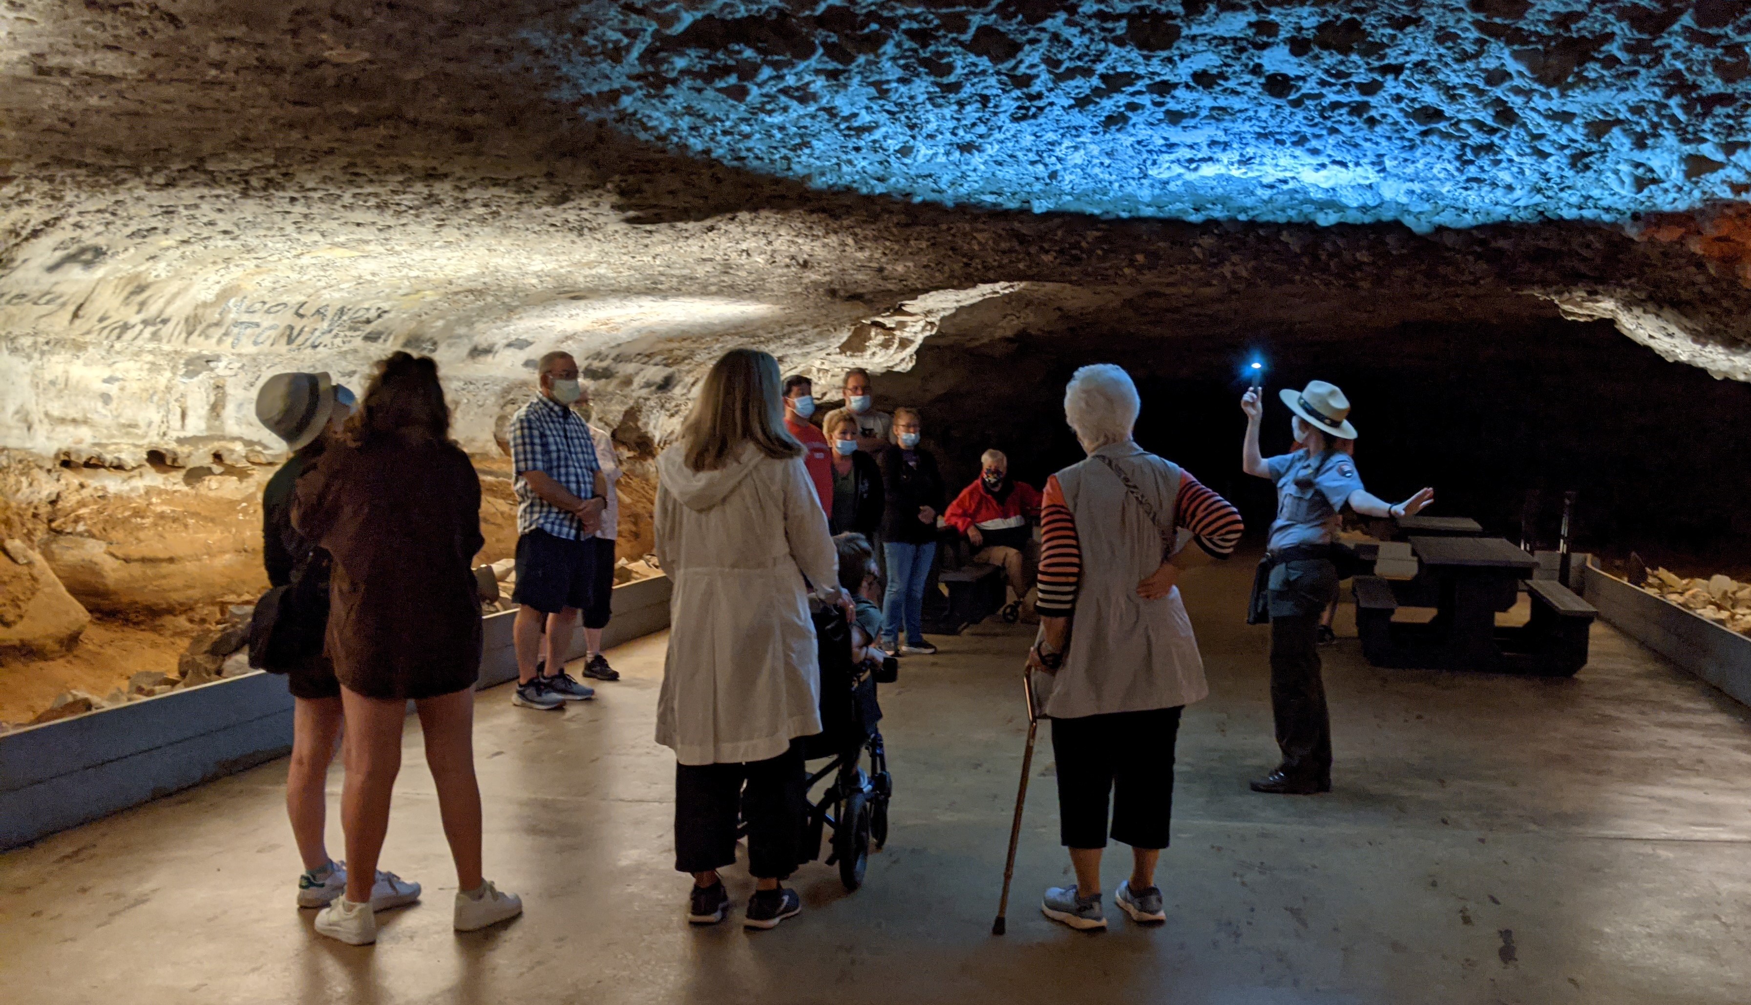
<path fill-rule="evenodd" d="M 1182 709 L 1052 720 L 1058 833 L 1066 847 L 1107 847 L 1108 795 L 1114 840 L 1143 849 L 1168 846 Z"/>

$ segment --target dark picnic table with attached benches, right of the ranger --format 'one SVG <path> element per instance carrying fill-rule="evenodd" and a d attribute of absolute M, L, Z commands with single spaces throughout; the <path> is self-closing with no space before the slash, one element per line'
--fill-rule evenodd
<path fill-rule="evenodd" d="M 1562 676 L 1586 664 L 1593 609 L 1557 583 L 1532 590 L 1532 622 L 1497 627 L 1495 615 L 1520 599 L 1537 559 L 1501 538 L 1410 539 L 1415 580 L 1355 578 L 1355 622 L 1362 653 L 1375 665 Z M 1396 623 L 1401 608 L 1434 608 L 1434 620 Z"/>

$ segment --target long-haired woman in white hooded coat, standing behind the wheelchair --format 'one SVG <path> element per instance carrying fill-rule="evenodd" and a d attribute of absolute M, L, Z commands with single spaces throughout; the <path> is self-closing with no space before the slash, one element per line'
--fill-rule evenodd
<path fill-rule="evenodd" d="M 802 457 L 784 431 L 777 361 L 734 348 L 657 460 L 657 555 L 674 583 L 657 742 L 676 756 L 676 868 L 693 874 L 695 924 L 728 914 L 718 868 L 735 861 L 739 814 L 756 879 L 744 924 L 772 928 L 802 909 L 781 881 L 800 860 L 807 812 L 798 741 L 821 732 L 811 585 L 839 599 Z"/>

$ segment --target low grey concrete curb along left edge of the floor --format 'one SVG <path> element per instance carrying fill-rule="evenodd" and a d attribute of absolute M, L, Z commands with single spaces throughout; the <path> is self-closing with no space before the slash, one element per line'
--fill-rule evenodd
<path fill-rule="evenodd" d="M 669 578 L 615 587 L 604 646 L 669 627 Z M 515 611 L 482 618 L 478 688 L 517 679 Z M 583 653 L 583 632 L 573 653 Z M 16 847 L 292 748 L 292 697 L 254 672 L 0 735 L 0 849 Z"/>

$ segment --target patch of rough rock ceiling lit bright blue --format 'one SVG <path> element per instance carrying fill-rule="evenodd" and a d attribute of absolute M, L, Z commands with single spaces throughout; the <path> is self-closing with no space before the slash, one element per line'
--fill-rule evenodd
<path fill-rule="evenodd" d="M 1746 0 L 601 0 L 524 37 L 637 137 L 949 205 L 1427 231 L 1751 191 Z"/>

